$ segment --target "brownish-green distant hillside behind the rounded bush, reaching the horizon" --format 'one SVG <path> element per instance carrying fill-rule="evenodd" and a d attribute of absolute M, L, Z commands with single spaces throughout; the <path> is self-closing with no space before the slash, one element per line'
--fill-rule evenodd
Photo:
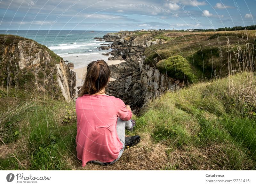
<path fill-rule="evenodd" d="M 135 33 L 141 34 L 141 33 Z M 150 66 L 158 66 L 158 60 L 165 60 L 172 56 L 184 57 L 198 80 L 204 78 L 224 77 L 232 70 L 240 70 L 237 63 L 241 52 L 249 51 L 255 61 L 255 30 L 248 31 L 220 31 L 220 32 L 146 32 L 155 39 L 163 39 L 166 42 L 146 48 L 143 56 L 145 63 Z M 156 58 L 158 57 L 158 60 Z M 231 66 L 230 66 L 231 64 Z M 187 65 L 186 67 L 187 68 Z M 177 67 L 180 71 L 180 68 Z M 166 71 L 168 75 L 168 70 Z M 186 76 L 186 75 L 184 75 Z M 176 77 L 179 80 L 179 77 Z"/>

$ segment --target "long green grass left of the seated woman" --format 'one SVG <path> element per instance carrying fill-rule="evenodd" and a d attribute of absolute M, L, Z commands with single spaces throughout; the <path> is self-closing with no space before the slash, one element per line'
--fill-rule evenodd
<path fill-rule="evenodd" d="M 0 144 L 20 144 L 13 153 L 17 153 L 16 158 L 20 162 L 27 162 L 26 169 L 69 169 L 63 155 L 76 156 L 75 102 L 54 101 L 47 96 L 33 101 L 25 100 L 24 97 L 17 100 L 20 101 L 19 107 L 1 114 L 3 141 Z M 21 144 L 25 144 L 25 149 L 22 149 Z M 7 158 L 11 156 L 12 153 L 9 153 L 1 159 L 0 168 L 24 169 L 16 158 Z M 18 166 L 14 166 L 16 164 Z"/>

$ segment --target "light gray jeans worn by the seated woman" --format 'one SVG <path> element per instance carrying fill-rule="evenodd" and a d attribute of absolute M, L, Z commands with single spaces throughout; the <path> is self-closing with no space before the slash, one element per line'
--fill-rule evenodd
<path fill-rule="evenodd" d="M 124 138 L 125 138 L 125 129 L 130 129 L 132 127 L 132 121 L 128 120 L 128 121 L 123 121 L 120 118 L 117 118 L 117 124 L 116 124 L 116 132 L 118 135 L 118 138 L 120 139 L 121 143 L 123 144 L 123 148 L 120 150 L 118 157 L 116 160 L 113 160 L 111 162 L 107 162 L 107 163 L 103 163 L 97 160 L 93 160 L 90 161 L 91 163 L 98 163 L 100 165 L 110 165 L 115 163 L 117 160 L 119 160 L 119 158 L 122 156 L 123 152 L 124 152 Z"/>

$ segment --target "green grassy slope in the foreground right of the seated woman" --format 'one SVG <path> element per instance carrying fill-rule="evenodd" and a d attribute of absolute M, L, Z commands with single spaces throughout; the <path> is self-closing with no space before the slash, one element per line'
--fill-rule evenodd
<path fill-rule="evenodd" d="M 248 77 L 242 73 L 165 93 L 149 103 L 138 125 L 170 155 L 181 151 L 194 161 L 188 167 L 178 162 L 181 169 L 255 170 L 256 104 L 241 99 L 256 90 L 255 73 L 251 83 Z M 237 97 L 246 86 L 250 92 Z"/>

